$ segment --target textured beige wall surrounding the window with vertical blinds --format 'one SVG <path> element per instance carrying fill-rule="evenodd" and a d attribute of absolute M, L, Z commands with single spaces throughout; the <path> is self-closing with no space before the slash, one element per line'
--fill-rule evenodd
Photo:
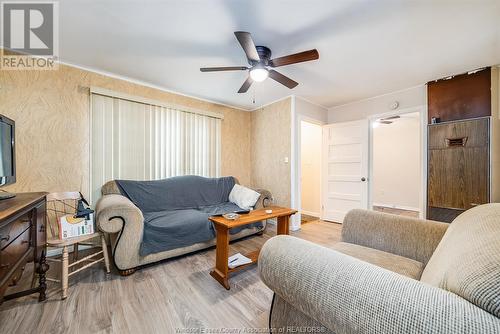
<path fill-rule="evenodd" d="M 250 184 L 249 112 L 61 65 L 0 71 L 0 114 L 16 121 L 14 192 L 81 190 L 89 183 L 89 87 L 223 113 L 222 175 Z"/>

